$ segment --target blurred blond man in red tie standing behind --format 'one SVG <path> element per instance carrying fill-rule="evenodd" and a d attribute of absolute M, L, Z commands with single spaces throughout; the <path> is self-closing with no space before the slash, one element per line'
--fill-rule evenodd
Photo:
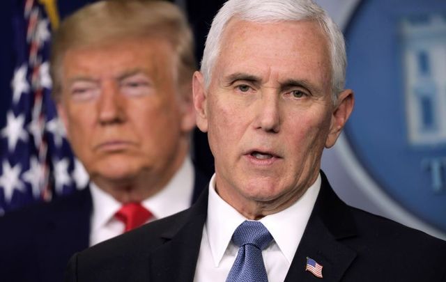
<path fill-rule="evenodd" d="M 167 1 L 99 1 L 61 23 L 53 96 L 91 182 L 1 219 L 1 279 L 61 281 L 76 251 L 190 206 L 207 182 L 189 154 L 195 69 L 190 26 Z"/>

